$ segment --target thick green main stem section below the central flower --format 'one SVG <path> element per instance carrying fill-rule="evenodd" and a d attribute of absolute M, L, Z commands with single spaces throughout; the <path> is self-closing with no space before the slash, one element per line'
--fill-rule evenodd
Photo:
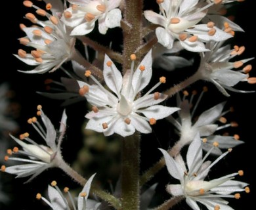
<path fill-rule="evenodd" d="M 140 207 L 140 136 L 135 133 L 125 137 L 122 143 L 122 210 L 136 210 Z"/>

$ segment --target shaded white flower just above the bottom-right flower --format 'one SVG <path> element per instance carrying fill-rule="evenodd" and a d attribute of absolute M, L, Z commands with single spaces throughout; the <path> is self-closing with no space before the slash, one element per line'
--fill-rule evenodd
<path fill-rule="evenodd" d="M 193 91 L 190 100 L 185 98 L 186 95 L 184 95 L 183 100 L 181 100 L 181 97 L 177 95 L 178 107 L 181 108 L 181 110 L 178 112 L 179 117 L 175 119 L 173 116 L 169 116 L 166 119 L 173 123 L 179 132 L 179 146 L 190 144 L 198 133 L 204 142 L 203 150 L 211 150 L 211 154 L 221 155 L 221 149 L 233 148 L 234 146 L 238 146 L 244 142 L 242 140 L 238 140 L 236 138 L 237 135 L 234 135 L 234 137 L 214 135 L 216 131 L 220 131 L 226 127 L 237 126 L 237 123 L 234 121 L 226 123 L 226 118 L 223 116 L 227 114 L 229 110 L 223 112 L 225 102 L 221 102 L 212 108 L 205 110 L 198 117 L 194 117 L 196 108 L 199 105 L 203 93 L 206 91 L 207 88 L 204 87 L 202 93 L 200 96 L 198 96 L 198 101 L 195 102 L 195 104 L 193 104 L 192 98 L 194 98 L 196 95 L 196 91 Z M 190 110 L 191 107 L 193 108 L 192 110 Z M 196 120 L 194 118 L 196 118 Z M 217 121 L 221 121 L 224 125 L 218 125 Z"/>

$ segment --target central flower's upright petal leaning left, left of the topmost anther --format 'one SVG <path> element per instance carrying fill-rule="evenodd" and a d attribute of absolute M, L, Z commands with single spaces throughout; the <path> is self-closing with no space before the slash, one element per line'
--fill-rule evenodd
<path fill-rule="evenodd" d="M 106 85 L 116 93 L 117 96 L 120 96 L 119 93 L 121 91 L 121 87 L 123 85 L 123 77 L 121 72 L 116 68 L 116 65 L 112 62 L 112 66 L 108 66 L 107 62 L 112 62 L 110 57 L 105 54 L 104 58 L 104 67 L 103 67 L 103 75 Z"/>

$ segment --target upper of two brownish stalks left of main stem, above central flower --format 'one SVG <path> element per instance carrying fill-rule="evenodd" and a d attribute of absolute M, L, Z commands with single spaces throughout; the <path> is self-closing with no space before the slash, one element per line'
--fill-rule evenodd
<path fill-rule="evenodd" d="M 91 40 L 91 39 L 89 39 L 88 37 L 85 37 L 85 36 L 83 36 L 83 37 L 79 36 L 79 37 L 77 37 L 77 39 L 82 41 L 84 45 L 90 46 L 95 51 L 98 51 L 98 52 L 104 53 L 104 54 L 108 54 L 108 56 L 112 60 L 116 60 L 116 62 L 119 62 L 119 63 L 123 62 L 123 58 L 122 58 L 121 54 L 112 51 L 112 49 L 104 47 L 103 45 L 100 45 L 99 43 L 96 43 L 96 41 L 93 41 L 93 40 Z"/>

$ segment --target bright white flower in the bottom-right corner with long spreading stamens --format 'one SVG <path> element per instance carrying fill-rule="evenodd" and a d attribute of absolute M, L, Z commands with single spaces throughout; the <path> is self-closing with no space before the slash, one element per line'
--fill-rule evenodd
<path fill-rule="evenodd" d="M 228 201 L 223 198 L 238 199 L 240 194 L 233 193 L 249 192 L 249 188 L 245 187 L 248 185 L 247 183 L 232 180 L 236 175 L 243 175 L 243 171 L 238 171 L 238 173 L 232 173 L 218 179 L 204 180 L 211 167 L 224 158 L 231 149 L 215 159 L 213 163 L 205 161 L 210 151 L 203 157 L 202 142 L 199 135 L 196 135 L 186 154 L 188 170 L 180 154 L 173 159 L 169 156 L 168 152 L 163 149 L 160 150 L 165 158 L 169 174 L 181 182 L 181 184 L 168 184 L 167 192 L 173 196 L 184 196 L 186 203 L 194 210 L 200 210 L 198 203 L 202 203 L 209 210 L 232 210 L 232 207 L 228 205 Z"/>

